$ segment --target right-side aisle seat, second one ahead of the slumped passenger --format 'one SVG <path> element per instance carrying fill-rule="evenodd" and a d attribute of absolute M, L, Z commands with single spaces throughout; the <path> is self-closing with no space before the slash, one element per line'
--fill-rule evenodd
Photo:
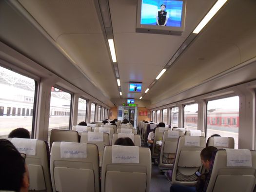
<path fill-rule="evenodd" d="M 182 131 L 164 131 L 158 165 L 160 169 L 171 169 L 173 167 L 178 138 L 182 135 L 184 135 Z"/>

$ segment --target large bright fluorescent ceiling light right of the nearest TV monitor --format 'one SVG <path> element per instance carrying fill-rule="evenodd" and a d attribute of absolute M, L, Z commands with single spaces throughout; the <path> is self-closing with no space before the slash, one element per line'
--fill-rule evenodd
<path fill-rule="evenodd" d="M 225 4 L 226 1 L 227 0 L 218 0 L 211 8 L 211 10 L 206 14 L 206 16 L 201 20 L 201 22 L 197 25 L 193 33 L 198 34 L 202 28 L 204 28 L 204 26 L 215 16 L 215 14 Z"/>

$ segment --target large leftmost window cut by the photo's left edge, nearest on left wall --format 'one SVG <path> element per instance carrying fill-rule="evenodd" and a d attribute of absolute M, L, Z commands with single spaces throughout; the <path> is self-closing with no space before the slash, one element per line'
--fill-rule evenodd
<path fill-rule="evenodd" d="M 26 108 L 33 108 L 35 80 L 0 67 L 0 90 L 0 138 L 6 138 L 18 127 L 23 127 L 31 133 L 33 114 L 20 118 L 16 113 L 18 111 L 19 114 L 20 106 L 24 107 L 24 115 Z M 25 98 L 32 98 L 33 102 L 27 102 Z"/>

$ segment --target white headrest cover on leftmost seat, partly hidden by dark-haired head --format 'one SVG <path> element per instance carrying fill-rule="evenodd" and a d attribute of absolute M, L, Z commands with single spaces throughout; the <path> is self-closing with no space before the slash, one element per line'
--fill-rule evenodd
<path fill-rule="evenodd" d="M 20 153 L 36 155 L 37 139 L 12 138 L 11 142 Z"/>

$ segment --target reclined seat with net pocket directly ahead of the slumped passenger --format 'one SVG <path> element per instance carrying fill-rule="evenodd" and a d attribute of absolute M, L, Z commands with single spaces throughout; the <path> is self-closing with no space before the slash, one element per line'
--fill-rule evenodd
<path fill-rule="evenodd" d="M 205 148 L 203 136 L 180 136 L 172 171 L 172 184 L 194 186 L 197 183 L 197 171 L 201 172 L 200 153 Z"/>

